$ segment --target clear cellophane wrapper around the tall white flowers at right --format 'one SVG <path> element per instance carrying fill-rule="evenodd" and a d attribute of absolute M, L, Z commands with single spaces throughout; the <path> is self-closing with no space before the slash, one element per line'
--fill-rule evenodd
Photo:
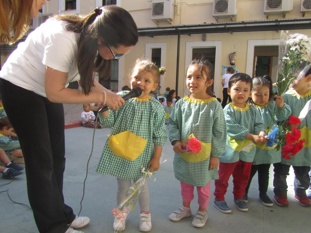
<path fill-rule="evenodd" d="M 310 62 L 310 51 L 311 40 L 308 36 L 281 31 L 276 79 L 279 96 L 282 96 L 296 79 L 303 77 L 304 68 Z"/>

